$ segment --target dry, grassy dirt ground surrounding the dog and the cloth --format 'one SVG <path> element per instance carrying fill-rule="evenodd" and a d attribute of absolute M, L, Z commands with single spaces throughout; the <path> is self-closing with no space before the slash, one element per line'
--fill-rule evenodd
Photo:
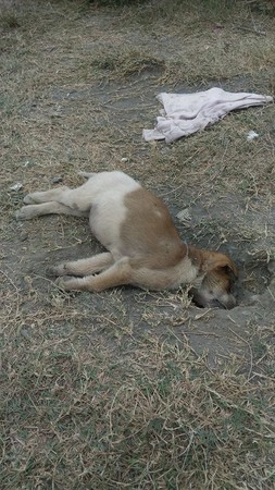
<path fill-rule="evenodd" d="M 274 105 L 173 145 L 141 136 L 160 91 L 275 94 L 273 3 L 1 3 L 3 489 L 275 488 Z M 249 142 L 252 130 L 259 137 Z M 161 196 L 185 241 L 233 257 L 234 309 L 198 308 L 186 291 L 68 295 L 47 277 L 49 264 L 101 246 L 82 219 L 16 222 L 24 195 L 80 184 L 79 170 L 113 169 Z M 163 370 L 173 381 L 166 415 L 155 395 Z M 198 413 L 185 418 L 173 400 Z M 107 417 L 98 414 L 88 436 L 87 405 Z M 171 417 L 178 425 L 167 429 Z M 211 428 L 214 442 L 190 439 L 201 434 L 192 424 Z M 153 427 L 147 442 L 133 442 L 145 425 Z M 177 454 L 179 427 L 188 430 Z"/>

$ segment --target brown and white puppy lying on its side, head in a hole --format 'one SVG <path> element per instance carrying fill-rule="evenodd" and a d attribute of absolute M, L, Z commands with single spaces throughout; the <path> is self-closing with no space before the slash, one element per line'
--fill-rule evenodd
<path fill-rule="evenodd" d="M 148 290 L 191 286 L 200 306 L 233 308 L 238 275 L 224 254 L 186 245 L 164 203 L 123 172 L 80 172 L 87 182 L 28 194 L 20 220 L 58 213 L 89 218 L 92 233 L 109 250 L 52 267 L 66 291 L 99 292 L 132 284 Z M 97 273 L 100 272 L 100 273 Z"/>

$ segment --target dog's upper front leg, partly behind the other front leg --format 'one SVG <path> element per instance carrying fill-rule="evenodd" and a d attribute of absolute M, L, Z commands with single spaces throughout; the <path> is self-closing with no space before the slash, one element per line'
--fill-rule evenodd
<path fill-rule="evenodd" d="M 52 275 L 90 275 L 99 272 L 114 262 L 113 256 L 110 252 L 95 255 L 93 257 L 74 260 L 71 262 L 59 264 L 58 266 L 49 267 L 48 272 Z"/>

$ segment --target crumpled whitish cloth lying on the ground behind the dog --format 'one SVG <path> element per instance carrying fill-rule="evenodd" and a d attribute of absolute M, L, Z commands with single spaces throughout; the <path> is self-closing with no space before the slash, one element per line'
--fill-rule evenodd
<path fill-rule="evenodd" d="M 229 111 L 250 106 L 272 102 L 273 97 L 258 94 L 230 93 L 222 88 L 210 88 L 196 94 L 159 94 L 157 98 L 164 109 L 157 118 L 154 130 L 143 130 L 142 136 L 151 139 L 165 139 L 172 143 L 182 136 L 203 130 L 224 118 Z"/>

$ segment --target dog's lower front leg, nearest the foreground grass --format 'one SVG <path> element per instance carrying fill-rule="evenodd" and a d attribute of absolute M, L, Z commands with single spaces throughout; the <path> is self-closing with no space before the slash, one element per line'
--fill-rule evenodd
<path fill-rule="evenodd" d="M 109 287 L 130 284 L 132 268 L 127 258 L 123 258 L 98 275 L 85 278 L 62 277 L 57 280 L 59 287 L 65 291 L 91 291 L 98 293 Z"/>

